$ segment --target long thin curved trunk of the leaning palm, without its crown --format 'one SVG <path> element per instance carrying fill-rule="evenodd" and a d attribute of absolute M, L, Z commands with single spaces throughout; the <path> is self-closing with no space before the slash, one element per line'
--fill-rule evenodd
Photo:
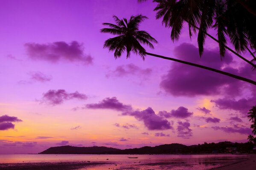
<path fill-rule="evenodd" d="M 235 74 L 231 74 L 231 73 L 228 73 L 228 72 L 225 72 L 225 71 L 217 70 L 215 68 L 210 68 L 210 67 L 206 67 L 206 66 L 203 66 L 203 65 L 195 64 L 195 63 L 192 63 L 192 62 L 186 62 L 186 61 L 182 61 L 180 59 L 164 57 L 164 56 L 160 56 L 160 55 L 152 54 L 152 53 L 148 53 L 148 52 L 146 52 L 145 54 L 150 55 L 150 56 L 154 56 L 154 57 L 159 57 L 159 58 L 163 58 L 163 59 L 168 59 L 168 60 L 180 62 L 180 63 L 186 64 L 186 65 L 192 65 L 192 66 L 198 67 L 198 68 L 203 68 L 203 69 L 206 69 L 206 70 L 209 70 L 209 71 L 213 71 L 215 73 L 223 74 L 223 75 L 226 75 L 226 76 L 229 76 L 229 77 L 232 77 L 232 78 L 235 78 L 235 79 L 239 79 L 239 80 L 242 80 L 244 82 L 249 82 L 249 83 L 251 83 L 253 85 L 256 85 L 256 82 L 251 80 L 251 79 L 240 77 L 240 76 L 237 76 Z"/>

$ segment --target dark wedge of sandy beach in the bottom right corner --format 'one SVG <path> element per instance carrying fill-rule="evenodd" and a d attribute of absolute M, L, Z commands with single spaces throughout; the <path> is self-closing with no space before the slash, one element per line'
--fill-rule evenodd
<path fill-rule="evenodd" d="M 245 161 L 238 161 L 230 165 L 215 168 L 214 170 L 256 170 L 256 154 L 250 154 Z"/>

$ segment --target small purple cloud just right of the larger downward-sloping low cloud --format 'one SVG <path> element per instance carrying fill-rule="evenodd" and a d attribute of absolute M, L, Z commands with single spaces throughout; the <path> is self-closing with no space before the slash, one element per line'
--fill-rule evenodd
<path fill-rule="evenodd" d="M 184 107 L 179 107 L 177 110 L 171 110 L 171 112 L 167 111 L 159 111 L 159 116 L 165 117 L 165 118 L 170 118 L 170 117 L 175 117 L 175 118 L 187 118 L 189 116 L 192 116 L 193 112 L 188 112 L 187 108 Z"/>

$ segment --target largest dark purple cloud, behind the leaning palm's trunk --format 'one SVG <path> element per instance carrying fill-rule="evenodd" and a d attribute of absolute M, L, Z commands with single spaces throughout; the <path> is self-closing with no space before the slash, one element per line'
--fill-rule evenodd
<path fill-rule="evenodd" d="M 174 49 L 174 54 L 179 59 L 228 71 L 232 74 L 248 78 L 251 78 L 252 75 L 250 67 L 230 68 L 228 65 L 233 61 L 229 53 L 226 53 L 220 61 L 221 57 L 218 49 L 211 51 L 205 49 L 203 56 L 200 57 L 198 48 L 183 43 Z M 231 77 L 178 62 L 172 63 L 171 68 L 162 77 L 160 83 L 160 87 L 168 94 L 189 97 L 217 94 L 237 95 L 241 93 L 245 85 L 247 84 Z"/>

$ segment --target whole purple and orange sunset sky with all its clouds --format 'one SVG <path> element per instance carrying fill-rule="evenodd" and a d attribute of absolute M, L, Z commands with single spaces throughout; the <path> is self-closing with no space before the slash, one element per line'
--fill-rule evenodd
<path fill-rule="evenodd" d="M 100 33 L 102 23 L 143 14 L 141 30 L 159 42 L 148 52 L 256 80 L 228 51 L 221 61 L 209 38 L 200 58 L 187 27 L 172 42 L 155 7 L 150 0 L 1 0 L 0 153 L 246 142 L 256 87 L 152 56 L 115 59 L 103 48 L 113 36 Z"/>

